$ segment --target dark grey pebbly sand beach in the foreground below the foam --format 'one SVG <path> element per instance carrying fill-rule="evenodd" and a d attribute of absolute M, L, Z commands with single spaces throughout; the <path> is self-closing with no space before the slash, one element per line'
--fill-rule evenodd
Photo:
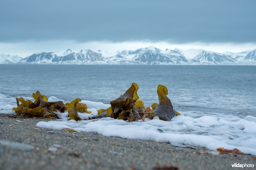
<path fill-rule="evenodd" d="M 12 116 L 0 114 L 0 141 L 29 144 L 34 149 L 26 151 L 0 144 L 0 169 L 233 169 L 234 163 L 256 165 L 252 155 L 193 154 L 190 151 L 207 149 L 37 128 L 37 122 L 48 120 Z"/>

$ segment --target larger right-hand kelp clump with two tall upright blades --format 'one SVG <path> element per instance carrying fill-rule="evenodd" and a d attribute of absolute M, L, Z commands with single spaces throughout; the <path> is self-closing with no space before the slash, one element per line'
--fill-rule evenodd
<path fill-rule="evenodd" d="M 168 90 L 164 85 L 158 85 L 159 104 L 153 103 L 151 108 L 150 106 L 145 108 L 143 101 L 139 100 L 138 89 L 139 86 L 136 83 L 132 83 L 132 86 L 123 95 L 110 102 L 111 107 L 106 110 L 98 110 L 98 115 L 89 119 L 112 117 L 114 119 L 128 120 L 129 122 L 144 121 L 145 118 L 170 121 L 174 116 L 180 115 L 173 109 L 171 100 L 167 97 Z"/>

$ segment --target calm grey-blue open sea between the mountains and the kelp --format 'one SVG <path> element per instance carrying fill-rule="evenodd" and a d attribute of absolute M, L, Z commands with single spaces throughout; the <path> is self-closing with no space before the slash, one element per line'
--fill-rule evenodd
<path fill-rule="evenodd" d="M 256 113 L 256 66 L 191 65 L 0 65 L 0 93 L 108 103 L 135 82 L 145 106 L 158 102 L 157 85 L 168 88 L 177 111 L 205 115 Z M 15 99 L 14 99 L 15 100 Z"/>

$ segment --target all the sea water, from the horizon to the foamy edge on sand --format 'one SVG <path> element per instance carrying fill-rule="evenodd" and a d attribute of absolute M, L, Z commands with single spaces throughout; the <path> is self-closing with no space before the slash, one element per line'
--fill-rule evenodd
<path fill-rule="evenodd" d="M 150 120 L 39 122 L 51 129 L 69 127 L 106 136 L 238 148 L 256 154 L 256 66 L 196 65 L 0 65 L 0 113 L 12 113 L 15 97 L 32 100 L 39 90 L 50 101 L 81 98 L 97 114 L 135 82 L 144 105 L 158 102 L 157 85 L 181 116 L 171 122 Z M 79 114 L 86 118 L 89 114 Z"/>

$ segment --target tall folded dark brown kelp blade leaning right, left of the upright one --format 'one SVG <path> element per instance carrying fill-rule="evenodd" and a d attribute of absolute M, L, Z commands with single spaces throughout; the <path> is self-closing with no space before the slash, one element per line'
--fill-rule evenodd
<path fill-rule="evenodd" d="M 131 87 L 116 100 L 110 102 L 113 109 L 112 117 L 118 118 L 119 113 L 123 110 L 133 110 L 135 101 L 139 99 L 137 90 L 139 86 L 136 83 L 132 83 Z"/>

